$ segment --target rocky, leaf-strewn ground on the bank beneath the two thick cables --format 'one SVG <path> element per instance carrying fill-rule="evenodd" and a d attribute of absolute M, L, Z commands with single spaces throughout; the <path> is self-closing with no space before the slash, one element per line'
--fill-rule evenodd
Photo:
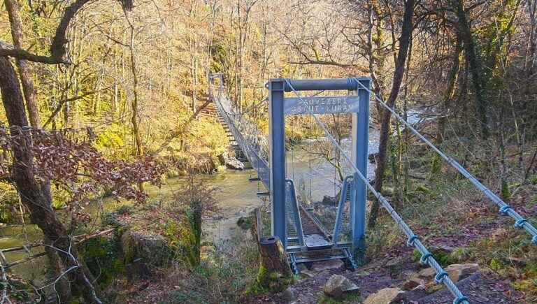
<path fill-rule="evenodd" d="M 533 212 L 524 210 L 526 215 Z M 494 220 L 488 220 L 494 219 Z M 528 238 L 524 231 L 510 228 L 513 223 L 508 217 L 498 217 L 494 208 L 485 204 L 468 211 L 468 217 L 457 226 L 450 229 L 452 223 L 438 223 L 436 226 L 415 227 L 420 236 L 429 236 L 424 240 L 425 245 L 451 279 L 456 282 L 461 292 L 467 296 L 470 303 L 532 303 L 527 295 L 517 291 L 513 284 L 520 280 L 524 267 L 533 261 L 531 254 L 521 261 L 517 258 L 520 252 L 510 256 L 503 263 L 504 270 L 492 270 L 491 263 L 485 258 L 487 252 L 499 249 L 501 246 L 520 244 L 519 240 L 513 245 L 505 245 L 515 238 Z M 481 244 L 492 244 L 481 248 Z M 519 245 L 517 248 L 519 248 Z M 524 247 L 526 248 L 526 247 Z M 459 251 L 472 252 L 454 262 L 447 257 L 460 254 Z M 520 249 L 520 248 L 519 248 Z M 370 256 L 370 261 L 355 271 L 346 270 L 343 262 L 331 261 L 313 264 L 309 268 L 302 267 L 296 284 L 284 292 L 274 295 L 262 295 L 255 299 L 256 303 L 453 303 L 454 296 L 443 284 L 434 283 L 434 270 L 422 266 L 417 261 L 419 255 L 413 248 L 406 247 L 403 238 L 397 244 L 385 248 L 382 256 Z M 524 249 L 528 250 L 528 249 Z M 531 249 L 530 249 L 531 250 Z M 524 258 L 522 258 L 523 260 Z M 451 261 L 450 261 L 451 260 Z M 487 261 L 483 263 L 483 260 Z M 488 264 L 487 264 L 488 263 Z M 522 266 L 510 268 L 509 264 L 520 263 Z M 507 266 L 506 266 L 507 264 Z M 513 273 L 506 273 L 512 271 Z M 515 272 L 517 272 L 515 274 Z M 500 275 L 501 273 L 501 275 Z M 334 276 L 343 276 L 336 280 Z M 522 274 L 522 277 L 524 275 Z M 346 280 L 345 280 L 346 279 Z M 331 283 L 339 282 L 339 286 Z M 356 290 L 343 293 L 341 289 L 355 285 Z M 338 288 L 340 290 L 338 290 Z"/>

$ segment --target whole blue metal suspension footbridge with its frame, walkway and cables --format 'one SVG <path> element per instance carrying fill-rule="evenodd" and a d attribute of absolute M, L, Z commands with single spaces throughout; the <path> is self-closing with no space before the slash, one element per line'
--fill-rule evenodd
<path fill-rule="evenodd" d="M 415 247 L 420 252 L 420 263 L 435 270 L 435 282 L 445 284 L 454 297 L 453 303 L 469 303 L 468 298 L 452 282 L 422 240 L 392 208 L 389 201 L 375 191 L 367 178 L 370 98 L 376 99 L 383 108 L 394 115 L 396 120 L 498 205 L 500 215 L 512 217 L 515 226 L 526 230 L 531 235 L 532 243 L 537 244 L 537 229 L 527 219 L 378 98 L 370 89 L 369 78 L 271 79 L 267 82 L 266 89 L 269 92 L 268 138 L 259 130 L 257 124 L 249 119 L 247 113 L 250 110 L 241 112 L 233 106 L 234 103 L 227 96 L 222 74 L 213 74 L 209 77 L 210 99 L 213 100 L 220 122 L 229 129 L 236 154 L 248 160 L 257 172 L 257 177 L 250 180 L 262 183 L 266 189 L 259 191 L 258 195 L 270 198 L 271 235 L 281 240 L 289 257 L 289 264 L 295 273 L 299 272 L 300 263 L 330 259 L 341 259 L 348 268 L 357 268 L 366 248 L 366 191 L 369 190 L 408 238 L 406 246 Z M 300 93 L 313 91 L 346 91 L 348 94 L 317 96 L 317 93 L 313 96 L 302 96 Z M 258 105 L 259 103 L 255 106 Z M 342 147 L 341 140 L 337 140 L 320 119 L 320 115 L 328 113 L 352 115 L 350 150 Z M 345 163 L 342 166 L 347 169 L 344 172 L 348 175 L 342 182 L 334 181 L 341 190 L 338 196 L 335 196 L 337 208 L 331 221 L 319 219 L 311 208 L 307 207 L 306 198 L 297 194 L 296 182 L 286 170 L 285 117 L 290 115 L 309 115 L 322 129 L 327 142 L 341 155 Z M 312 171 L 309 174 L 313 174 Z"/>

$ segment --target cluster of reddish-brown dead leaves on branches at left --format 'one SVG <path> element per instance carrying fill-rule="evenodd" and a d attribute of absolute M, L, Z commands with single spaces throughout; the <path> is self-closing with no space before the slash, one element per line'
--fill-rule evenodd
<path fill-rule="evenodd" d="M 14 138 L 0 129 L 0 154 L 10 150 Z M 71 190 L 71 203 L 83 203 L 100 189 L 113 189 L 115 196 L 143 203 L 147 197 L 134 186 L 142 182 L 160 185 L 163 166 L 150 158 L 136 161 L 110 161 L 90 143 L 76 142 L 61 132 L 24 131 L 31 140 L 34 170 L 38 178 L 50 180 Z M 0 175 L 6 173 L 8 161 L 0 159 Z"/>

